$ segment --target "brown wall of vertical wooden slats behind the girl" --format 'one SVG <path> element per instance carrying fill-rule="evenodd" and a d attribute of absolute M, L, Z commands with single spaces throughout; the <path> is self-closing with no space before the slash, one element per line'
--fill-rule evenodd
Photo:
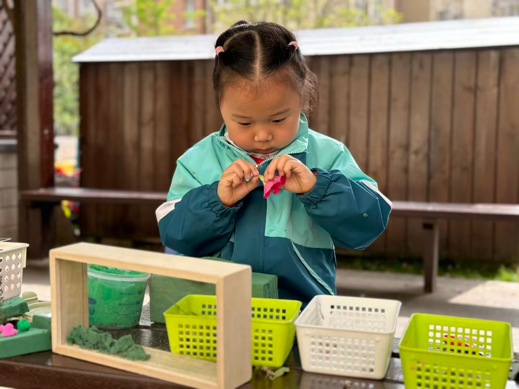
<path fill-rule="evenodd" d="M 307 62 L 320 82 L 312 128 L 344 142 L 392 200 L 519 202 L 519 48 Z M 82 185 L 167 191 L 176 159 L 222 124 L 212 66 L 83 64 Z M 82 214 L 87 235 L 158 237 L 153 210 L 96 210 Z M 517 225 L 441 228 L 444 255 L 519 260 Z M 392 218 L 369 250 L 420 255 L 421 243 L 420 221 Z"/>

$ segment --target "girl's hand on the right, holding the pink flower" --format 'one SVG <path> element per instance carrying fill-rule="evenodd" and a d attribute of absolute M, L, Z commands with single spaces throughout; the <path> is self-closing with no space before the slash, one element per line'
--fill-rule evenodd
<path fill-rule="evenodd" d="M 270 165 L 265 170 L 265 181 L 273 180 L 276 172 L 281 177 L 286 177 L 283 189 L 292 193 L 302 194 L 309 192 L 317 181 L 310 169 L 300 160 L 287 154 L 276 157 L 270 162 Z"/>

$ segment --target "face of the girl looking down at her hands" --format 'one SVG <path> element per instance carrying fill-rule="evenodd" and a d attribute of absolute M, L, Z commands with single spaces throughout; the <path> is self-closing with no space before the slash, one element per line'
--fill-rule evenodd
<path fill-rule="evenodd" d="M 263 81 L 261 93 L 245 82 L 226 86 L 220 111 L 229 137 L 248 152 L 268 154 L 296 137 L 301 114 L 299 94 L 286 82 Z"/>

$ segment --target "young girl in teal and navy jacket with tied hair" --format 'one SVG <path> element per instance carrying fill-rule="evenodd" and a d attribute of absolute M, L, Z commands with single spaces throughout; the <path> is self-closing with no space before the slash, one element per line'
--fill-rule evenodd
<path fill-rule="evenodd" d="M 215 54 L 225 124 L 178 159 L 168 202 L 157 209 L 162 243 L 275 274 L 283 299 L 335 294 L 334 245 L 369 246 L 391 203 L 341 142 L 308 128 L 317 79 L 294 34 L 238 22 Z M 265 199 L 263 182 L 280 179 L 282 190 Z"/>

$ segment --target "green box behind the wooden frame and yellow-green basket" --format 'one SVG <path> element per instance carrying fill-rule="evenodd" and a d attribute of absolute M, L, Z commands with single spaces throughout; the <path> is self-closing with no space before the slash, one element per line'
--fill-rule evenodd
<path fill-rule="evenodd" d="M 221 258 L 204 258 L 230 262 Z M 165 323 L 164 312 L 190 294 L 215 295 L 214 284 L 188 281 L 181 278 L 152 275 L 150 278 L 150 319 Z M 252 273 L 252 297 L 278 298 L 278 278 L 270 274 Z"/>

